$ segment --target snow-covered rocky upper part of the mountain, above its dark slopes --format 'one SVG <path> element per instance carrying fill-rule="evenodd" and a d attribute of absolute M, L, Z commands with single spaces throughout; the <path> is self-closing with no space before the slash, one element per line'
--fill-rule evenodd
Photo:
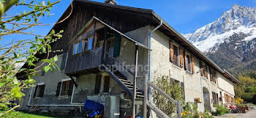
<path fill-rule="evenodd" d="M 254 7 L 241 7 L 237 4 L 223 14 L 213 23 L 204 25 L 193 34 L 184 34 L 202 52 L 214 52 L 218 45 L 228 42 L 233 34 L 246 34 L 241 42 L 249 42 L 256 37 L 256 9 Z"/>

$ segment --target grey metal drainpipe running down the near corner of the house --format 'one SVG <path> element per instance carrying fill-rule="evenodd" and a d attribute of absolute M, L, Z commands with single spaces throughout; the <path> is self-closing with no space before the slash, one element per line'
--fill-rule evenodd
<path fill-rule="evenodd" d="M 148 45 L 149 45 L 149 51 L 148 51 L 148 81 L 151 82 L 151 37 L 152 37 L 152 34 L 154 31 L 156 31 L 158 28 L 160 28 L 160 26 L 162 25 L 162 19 L 161 19 L 161 22 L 159 25 L 157 25 L 156 28 L 154 28 L 152 31 L 150 31 L 150 34 L 148 36 Z M 150 95 L 150 87 L 148 88 L 148 98 L 151 98 L 151 95 Z M 149 99 L 149 101 L 151 101 L 151 99 Z"/>

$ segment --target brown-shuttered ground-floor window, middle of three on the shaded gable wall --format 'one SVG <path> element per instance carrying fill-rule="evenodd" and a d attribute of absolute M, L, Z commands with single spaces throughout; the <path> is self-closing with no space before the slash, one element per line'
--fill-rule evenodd
<path fill-rule="evenodd" d="M 73 85 L 71 79 L 62 79 L 57 85 L 56 96 L 72 95 Z"/>

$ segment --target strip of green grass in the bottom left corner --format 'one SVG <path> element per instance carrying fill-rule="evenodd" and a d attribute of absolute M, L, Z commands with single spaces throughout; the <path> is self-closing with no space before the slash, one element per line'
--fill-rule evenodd
<path fill-rule="evenodd" d="M 0 113 L 4 113 L 4 111 L 0 111 Z M 39 112 L 31 112 L 26 113 L 23 111 L 12 111 L 10 114 L 4 115 L 6 118 L 50 118 L 50 117 L 58 117 L 50 113 L 39 113 Z"/>

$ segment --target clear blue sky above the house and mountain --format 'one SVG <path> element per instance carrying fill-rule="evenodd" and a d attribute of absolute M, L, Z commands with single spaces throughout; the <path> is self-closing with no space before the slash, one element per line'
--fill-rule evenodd
<path fill-rule="evenodd" d="M 39 0 L 42 1 L 42 0 Z M 50 0 L 56 1 L 56 0 Z M 95 0 L 104 2 L 105 0 Z M 119 5 L 129 7 L 140 7 L 145 9 L 153 9 L 167 23 L 176 29 L 181 34 L 194 32 L 197 28 L 216 20 L 222 12 L 231 9 L 233 4 L 246 7 L 256 7 L 256 0 L 116 0 Z M 69 6 L 69 0 L 61 0 L 51 10 L 50 17 L 44 17 L 40 20 L 42 23 L 56 23 L 62 13 Z M 23 7 L 12 12 L 26 10 Z M 34 34 L 48 34 L 53 25 L 37 26 L 29 31 L 34 31 Z M 12 35 L 7 39 L 27 39 L 29 36 Z"/>

